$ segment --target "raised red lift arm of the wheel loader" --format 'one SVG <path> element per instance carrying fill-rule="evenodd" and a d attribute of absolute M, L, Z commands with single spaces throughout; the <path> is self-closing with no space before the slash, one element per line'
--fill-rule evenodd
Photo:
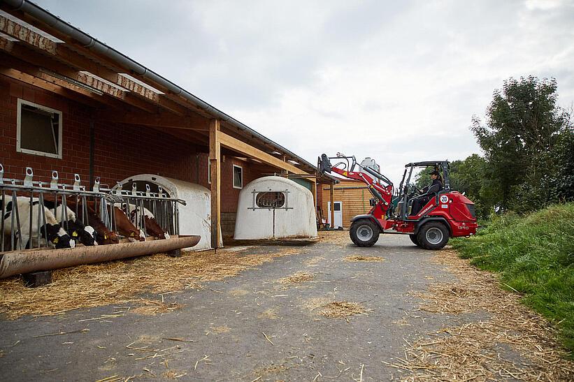
<path fill-rule="evenodd" d="M 331 159 L 337 159 L 339 162 L 332 166 Z M 386 214 L 391 205 L 393 184 L 385 175 L 372 168 L 362 167 L 357 163 L 354 156 L 344 156 L 343 154 L 337 154 L 337 156 L 322 154 L 317 167 L 322 174 L 335 172 L 347 179 L 359 180 L 366 184 L 368 191 L 379 201 L 378 204 L 381 205 L 383 214 Z M 356 167 L 360 170 L 354 171 Z M 380 182 L 376 182 L 375 179 L 380 180 Z"/>

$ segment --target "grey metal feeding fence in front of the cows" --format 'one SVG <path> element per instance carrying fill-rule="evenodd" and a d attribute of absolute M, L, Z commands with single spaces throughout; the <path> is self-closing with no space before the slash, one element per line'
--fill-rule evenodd
<path fill-rule="evenodd" d="M 84 226 L 93 219 L 90 218 L 92 215 L 117 233 L 113 208 L 120 207 L 146 236 L 146 215 L 155 219 L 169 235 L 179 233 L 178 204 L 185 205 L 185 201 L 168 198 L 161 188 L 157 193 L 150 192 L 147 184 L 143 192 L 135 188 L 108 189 L 97 177 L 92 191 L 89 191 L 80 184 L 78 174 L 74 174 L 73 184 L 60 183 L 57 171 L 52 171 L 49 182 L 42 182 L 34 179 L 34 170 L 29 167 L 25 170 L 24 179 L 4 179 L 3 175 L 4 169 L 0 164 L 1 252 L 47 247 L 46 223 L 50 214 L 64 230 L 68 230 L 69 210 Z"/>

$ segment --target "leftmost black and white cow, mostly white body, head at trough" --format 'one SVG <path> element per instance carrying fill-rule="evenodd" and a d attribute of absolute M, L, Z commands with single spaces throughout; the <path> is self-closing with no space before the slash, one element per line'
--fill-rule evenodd
<path fill-rule="evenodd" d="M 32 210 L 31 232 L 30 208 Z M 66 230 L 60 226 L 56 220 L 56 217 L 50 210 L 48 210 L 48 208 L 44 207 L 43 211 L 45 216 L 45 224 L 43 224 L 43 216 L 41 215 L 40 205 L 38 203 L 32 203 L 32 205 L 30 205 L 30 198 L 19 196 L 17 198 L 17 209 L 18 216 L 20 216 L 20 236 L 16 237 L 16 248 L 20 248 L 20 243 L 25 244 L 22 246 L 24 248 L 38 247 L 38 244 L 40 244 L 40 247 L 46 247 L 48 245 L 57 249 L 76 247 L 76 242 L 74 242 L 68 233 L 66 233 Z M 6 203 L 6 208 L 4 211 L 3 234 L 9 236 L 12 233 L 12 214 L 15 214 L 14 206 L 11 200 Z M 40 243 L 38 243 L 38 216 L 41 222 Z M 14 227 L 14 233 L 17 235 L 17 226 Z M 45 237 L 45 233 L 48 234 L 48 237 Z M 46 244 L 46 239 L 48 240 L 48 244 Z"/>

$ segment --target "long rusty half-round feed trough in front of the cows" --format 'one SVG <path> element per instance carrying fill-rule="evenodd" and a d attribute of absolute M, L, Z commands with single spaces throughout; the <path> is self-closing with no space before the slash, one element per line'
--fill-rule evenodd
<path fill-rule="evenodd" d="M 169 240 L 146 240 L 66 249 L 24 249 L 0 253 L 0 279 L 20 273 L 55 270 L 74 265 L 101 263 L 194 247 L 199 235 L 172 236 Z"/>

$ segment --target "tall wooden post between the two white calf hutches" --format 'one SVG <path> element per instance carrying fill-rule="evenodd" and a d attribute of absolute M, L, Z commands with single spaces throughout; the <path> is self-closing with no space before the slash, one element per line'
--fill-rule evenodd
<path fill-rule="evenodd" d="M 209 161 L 211 163 L 211 247 L 220 247 L 221 230 L 221 123 L 211 119 L 209 124 Z"/>

